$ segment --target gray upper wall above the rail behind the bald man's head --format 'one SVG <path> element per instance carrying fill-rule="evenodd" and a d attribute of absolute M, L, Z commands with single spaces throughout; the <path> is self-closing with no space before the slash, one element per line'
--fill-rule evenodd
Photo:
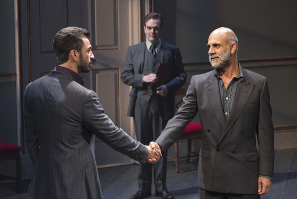
<path fill-rule="evenodd" d="M 207 61 L 209 34 L 228 27 L 239 38 L 239 59 L 297 55 L 294 0 L 178 0 L 177 44 L 184 62 Z"/>

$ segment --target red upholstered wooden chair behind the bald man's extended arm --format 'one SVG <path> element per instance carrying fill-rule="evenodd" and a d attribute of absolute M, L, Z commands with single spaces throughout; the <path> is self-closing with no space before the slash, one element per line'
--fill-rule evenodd
<path fill-rule="evenodd" d="M 175 95 L 183 95 L 185 96 L 187 89 L 180 89 L 175 93 Z M 177 109 L 182 104 L 182 100 L 175 104 L 175 108 Z M 192 157 L 199 157 L 198 153 L 191 151 L 192 139 L 201 139 L 201 124 L 198 122 L 190 122 L 186 129 L 184 130 L 182 136 L 174 143 L 174 154 L 175 157 L 171 157 L 168 155 L 168 159 L 175 161 L 176 172 L 178 173 L 178 160 L 186 159 L 187 162 L 190 161 Z M 188 140 L 188 150 L 187 156 L 179 156 L 178 142 L 180 140 Z"/>

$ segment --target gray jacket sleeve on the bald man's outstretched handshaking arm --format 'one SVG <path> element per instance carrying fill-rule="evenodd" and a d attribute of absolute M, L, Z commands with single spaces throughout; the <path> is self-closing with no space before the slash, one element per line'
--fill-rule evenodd
<path fill-rule="evenodd" d="M 174 117 L 167 122 L 166 127 L 156 139 L 155 143 L 161 145 L 163 151 L 167 151 L 182 135 L 190 121 L 195 118 L 197 112 L 197 95 L 194 77 L 192 77 L 182 106 L 178 109 Z"/>

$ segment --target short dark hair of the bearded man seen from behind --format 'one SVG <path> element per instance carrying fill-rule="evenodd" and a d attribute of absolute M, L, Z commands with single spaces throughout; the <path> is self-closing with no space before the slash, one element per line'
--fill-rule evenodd
<path fill-rule="evenodd" d="M 81 53 L 84 44 L 83 37 L 89 38 L 90 33 L 86 29 L 79 27 L 66 27 L 57 32 L 53 38 L 52 46 L 60 62 L 59 64 L 68 61 L 72 49 Z"/>

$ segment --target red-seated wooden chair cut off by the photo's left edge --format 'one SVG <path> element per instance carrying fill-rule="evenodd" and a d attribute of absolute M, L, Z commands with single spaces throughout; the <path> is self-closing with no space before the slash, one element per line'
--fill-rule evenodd
<path fill-rule="evenodd" d="M 16 177 L 0 175 L 0 179 L 16 180 L 17 193 L 20 193 L 20 182 L 22 178 L 20 151 L 21 151 L 21 148 L 17 145 L 0 142 L 0 161 L 15 160 L 15 170 L 16 170 Z"/>

